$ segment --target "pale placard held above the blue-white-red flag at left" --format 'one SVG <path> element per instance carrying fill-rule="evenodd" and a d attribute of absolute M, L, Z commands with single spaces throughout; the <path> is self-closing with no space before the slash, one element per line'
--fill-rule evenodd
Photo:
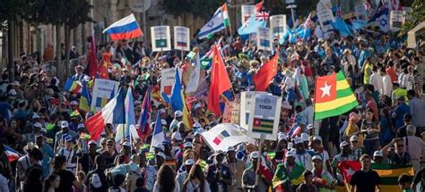
<path fill-rule="evenodd" d="M 91 107 L 94 107 L 96 112 L 99 112 L 115 94 L 118 94 L 118 87 L 119 83 L 115 80 L 95 79 Z"/>

